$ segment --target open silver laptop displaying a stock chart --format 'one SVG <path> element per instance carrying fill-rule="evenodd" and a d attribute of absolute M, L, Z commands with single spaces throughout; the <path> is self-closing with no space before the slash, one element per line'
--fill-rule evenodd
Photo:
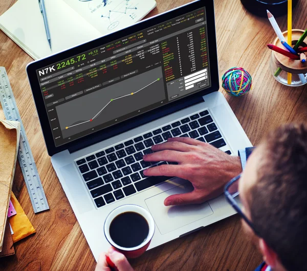
<path fill-rule="evenodd" d="M 143 174 L 169 163 L 142 159 L 169 137 L 195 138 L 229 155 L 251 146 L 218 92 L 213 0 L 32 62 L 27 73 L 53 167 L 96 260 L 109 248 L 105 218 L 121 205 L 152 214 L 149 249 L 235 213 L 223 196 L 165 207 L 167 196 L 191 191 L 190 183 Z"/>

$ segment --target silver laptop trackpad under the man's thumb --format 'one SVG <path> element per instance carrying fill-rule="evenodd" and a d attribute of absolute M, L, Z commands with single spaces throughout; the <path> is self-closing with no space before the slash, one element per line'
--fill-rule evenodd
<path fill-rule="evenodd" d="M 177 230 L 193 223 L 194 221 L 213 214 L 213 211 L 207 202 L 182 206 L 164 206 L 164 200 L 167 196 L 187 193 L 192 190 L 192 185 L 187 182 L 145 200 L 145 203 L 153 216 L 153 219 L 155 219 L 156 225 L 161 234 Z"/>

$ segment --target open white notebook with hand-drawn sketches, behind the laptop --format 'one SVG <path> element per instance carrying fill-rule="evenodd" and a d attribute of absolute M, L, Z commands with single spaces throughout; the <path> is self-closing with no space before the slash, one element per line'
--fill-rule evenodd
<path fill-rule="evenodd" d="M 0 16 L 0 29 L 36 60 L 128 27 L 156 5 L 155 0 L 45 0 L 52 50 L 38 0 L 18 0 Z"/>

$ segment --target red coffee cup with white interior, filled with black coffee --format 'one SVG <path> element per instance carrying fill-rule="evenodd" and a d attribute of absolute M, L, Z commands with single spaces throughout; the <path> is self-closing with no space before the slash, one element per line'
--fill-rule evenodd
<path fill-rule="evenodd" d="M 147 221 L 148 227 L 149 227 L 149 231 L 148 231 L 147 237 L 144 239 L 142 243 L 132 248 L 125 248 L 125 247 L 121 247 L 119 244 L 117 244 L 112 239 L 111 234 L 110 234 L 110 226 L 112 224 L 112 221 L 116 217 L 118 217 L 121 214 L 129 213 L 129 212 L 137 213 L 141 215 L 143 218 L 145 218 L 145 220 Z M 138 205 L 132 205 L 132 204 L 122 205 L 114 209 L 106 217 L 105 223 L 104 223 L 105 238 L 114 248 L 116 248 L 120 253 L 125 255 L 127 258 L 137 258 L 141 256 L 149 247 L 150 241 L 154 233 L 155 233 L 155 221 L 153 220 L 153 217 L 146 209 Z M 127 229 L 127 234 L 129 234 L 129 229 Z"/>

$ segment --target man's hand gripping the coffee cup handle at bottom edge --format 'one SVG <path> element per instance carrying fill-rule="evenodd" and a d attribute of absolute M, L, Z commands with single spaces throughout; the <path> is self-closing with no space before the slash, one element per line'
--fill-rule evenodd
<path fill-rule="evenodd" d="M 114 248 L 109 248 L 107 253 L 103 252 L 100 254 L 95 271 L 112 271 L 112 269 L 107 264 L 107 256 L 115 264 L 118 271 L 134 271 L 126 257 Z"/>

